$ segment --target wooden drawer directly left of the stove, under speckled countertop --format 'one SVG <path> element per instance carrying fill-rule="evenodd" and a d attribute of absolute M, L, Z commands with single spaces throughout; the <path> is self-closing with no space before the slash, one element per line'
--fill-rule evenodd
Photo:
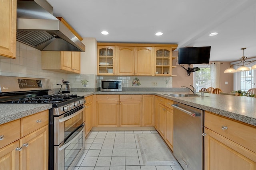
<path fill-rule="evenodd" d="M 29 133 L 48 125 L 49 111 L 45 110 L 34 115 L 20 119 L 20 136 L 24 137 Z"/>

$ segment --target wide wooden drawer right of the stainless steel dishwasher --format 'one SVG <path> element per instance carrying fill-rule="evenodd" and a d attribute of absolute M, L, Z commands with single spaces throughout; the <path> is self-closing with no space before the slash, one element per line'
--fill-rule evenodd
<path fill-rule="evenodd" d="M 256 128 L 205 111 L 204 126 L 256 152 Z"/>

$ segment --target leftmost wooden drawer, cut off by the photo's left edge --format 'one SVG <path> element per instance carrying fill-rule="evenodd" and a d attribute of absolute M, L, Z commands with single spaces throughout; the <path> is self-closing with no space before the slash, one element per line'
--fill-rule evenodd
<path fill-rule="evenodd" d="M 0 125 L 0 148 L 20 139 L 20 119 Z"/>

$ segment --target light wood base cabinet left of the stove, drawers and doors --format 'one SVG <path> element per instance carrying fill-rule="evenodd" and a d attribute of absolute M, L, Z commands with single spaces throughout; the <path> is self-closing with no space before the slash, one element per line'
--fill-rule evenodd
<path fill-rule="evenodd" d="M 48 169 L 48 114 L 46 110 L 0 125 L 1 168 Z"/>

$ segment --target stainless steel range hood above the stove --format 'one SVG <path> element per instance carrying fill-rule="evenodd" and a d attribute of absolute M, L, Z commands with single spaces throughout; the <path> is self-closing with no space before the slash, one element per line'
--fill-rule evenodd
<path fill-rule="evenodd" d="M 52 14 L 46 0 L 17 0 L 17 41 L 40 51 L 85 51 L 82 38 Z"/>

